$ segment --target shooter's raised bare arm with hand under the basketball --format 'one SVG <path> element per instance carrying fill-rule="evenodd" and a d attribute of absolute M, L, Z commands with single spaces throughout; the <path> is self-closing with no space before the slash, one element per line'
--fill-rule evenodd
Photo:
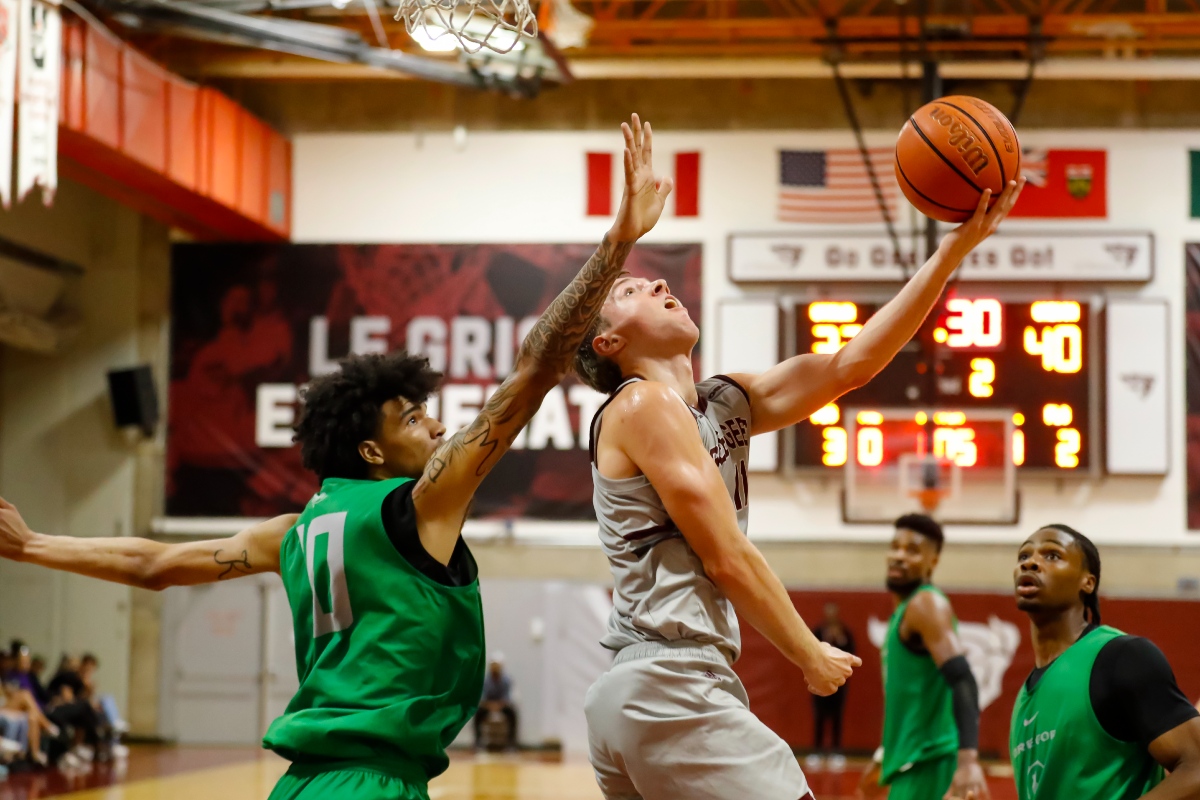
<path fill-rule="evenodd" d="M 758 375 L 731 375 L 750 395 L 751 433 L 767 433 L 803 422 L 888 366 L 920 329 L 962 259 L 996 233 L 1024 186 L 1024 178 L 1009 181 L 991 211 L 988 211 L 991 192 L 984 192 L 974 216 L 948 233 L 900 293 L 838 353 L 802 354 Z"/>

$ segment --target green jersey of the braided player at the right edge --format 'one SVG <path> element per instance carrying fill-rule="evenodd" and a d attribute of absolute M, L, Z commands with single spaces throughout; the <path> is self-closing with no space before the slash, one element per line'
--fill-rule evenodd
<path fill-rule="evenodd" d="M 1135 800 L 1163 780 L 1145 744 L 1114 739 L 1092 708 L 1096 657 L 1124 636 L 1100 626 L 1054 660 L 1013 706 L 1009 747 L 1020 800 Z"/>

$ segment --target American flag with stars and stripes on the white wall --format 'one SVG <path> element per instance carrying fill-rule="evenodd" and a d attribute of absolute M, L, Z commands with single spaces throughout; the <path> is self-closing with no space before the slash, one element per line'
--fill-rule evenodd
<path fill-rule="evenodd" d="M 892 148 L 868 150 L 892 219 L 896 186 Z M 779 218 L 784 222 L 882 222 L 871 179 L 857 149 L 782 150 L 779 154 Z"/>

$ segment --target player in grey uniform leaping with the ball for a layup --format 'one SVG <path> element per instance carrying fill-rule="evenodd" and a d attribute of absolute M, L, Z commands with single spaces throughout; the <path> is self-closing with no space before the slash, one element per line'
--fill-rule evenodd
<path fill-rule="evenodd" d="M 761 375 L 694 383 L 698 330 L 662 281 L 624 276 L 575 360 L 611 395 L 592 422 L 600 541 L 613 612 L 612 669 L 587 698 L 592 764 L 610 800 L 799 800 L 791 748 L 750 712 L 730 664 L 734 609 L 829 694 L 862 663 L 821 644 L 745 536 L 750 437 L 796 425 L 878 373 L 912 338 L 962 258 L 1016 201 L 942 240 L 900 293 L 834 355 L 805 354 Z"/>

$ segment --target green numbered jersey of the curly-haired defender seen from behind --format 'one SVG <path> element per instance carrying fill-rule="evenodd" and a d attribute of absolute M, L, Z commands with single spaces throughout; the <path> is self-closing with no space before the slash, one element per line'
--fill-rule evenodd
<path fill-rule="evenodd" d="M 396 552 L 380 509 L 408 482 L 326 480 L 283 540 L 300 688 L 263 744 L 287 759 L 415 764 L 433 777 L 479 708 L 479 582 L 442 585 Z"/>

